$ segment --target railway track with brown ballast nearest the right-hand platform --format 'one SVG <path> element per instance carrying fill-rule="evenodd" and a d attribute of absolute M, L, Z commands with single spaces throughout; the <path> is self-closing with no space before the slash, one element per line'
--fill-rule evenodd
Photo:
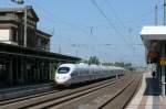
<path fill-rule="evenodd" d="M 137 89 L 141 78 L 125 78 L 96 89 L 39 105 L 31 109 L 124 109 Z M 125 83 L 125 85 L 124 85 Z"/>

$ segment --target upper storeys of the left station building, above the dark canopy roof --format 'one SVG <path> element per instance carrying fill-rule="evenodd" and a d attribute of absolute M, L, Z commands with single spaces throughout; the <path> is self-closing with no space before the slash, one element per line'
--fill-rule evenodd
<path fill-rule="evenodd" d="M 38 30 L 38 22 L 39 18 L 32 7 L 0 9 L 0 42 L 50 51 L 51 34 Z"/>

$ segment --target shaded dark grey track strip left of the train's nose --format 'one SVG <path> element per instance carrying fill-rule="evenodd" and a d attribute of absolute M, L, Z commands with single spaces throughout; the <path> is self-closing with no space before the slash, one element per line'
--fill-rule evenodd
<path fill-rule="evenodd" d="M 3 88 L 0 89 L 0 102 L 9 99 L 49 91 L 53 88 L 55 88 L 54 83 Z"/>

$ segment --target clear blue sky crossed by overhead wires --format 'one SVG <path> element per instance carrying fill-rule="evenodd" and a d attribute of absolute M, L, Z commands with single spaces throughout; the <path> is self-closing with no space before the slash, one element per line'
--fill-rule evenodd
<path fill-rule="evenodd" d="M 50 34 L 51 52 L 101 62 L 145 64 L 139 36 L 144 25 L 163 24 L 164 0 L 25 0 L 40 22 L 38 29 Z M 23 7 L 0 0 L 1 8 Z"/>

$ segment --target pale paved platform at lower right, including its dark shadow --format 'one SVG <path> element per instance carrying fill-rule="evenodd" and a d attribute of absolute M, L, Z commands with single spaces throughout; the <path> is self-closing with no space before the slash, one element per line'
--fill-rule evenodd
<path fill-rule="evenodd" d="M 126 109 L 166 109 L 166 99 L 160 96 L 158 85 L 151 73 L 143 74 L 141 89 Z"/>

